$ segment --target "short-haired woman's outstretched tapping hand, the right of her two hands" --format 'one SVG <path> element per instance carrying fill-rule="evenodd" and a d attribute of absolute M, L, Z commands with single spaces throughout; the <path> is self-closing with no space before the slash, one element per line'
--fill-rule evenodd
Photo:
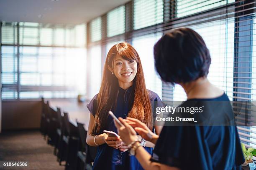
<path fill-rule="evenodd" d="M 145 140 L 153 142 L 152 139 L 158 138 L 158 135 L 154 134 L 145 123 L 141 122 L 138 119 L 126 117 L 125 122 L 131 125 L 136 130 L 136 132 L 141 135 L 141 137 Z"/>

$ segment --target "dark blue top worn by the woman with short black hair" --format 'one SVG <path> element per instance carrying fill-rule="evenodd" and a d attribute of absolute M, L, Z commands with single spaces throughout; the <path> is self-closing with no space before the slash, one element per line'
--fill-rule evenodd
<path fill-rule="evenodd" d="M 225 93 L 216 98 L 192 100 L 229 101 Z M 182 107 L 187 103 L 188 100 Z M 219 109 L 223 115 L 226 111 Z M 164 126 L 151 161 L 182 170 L 238 170 L 245 160 L 236 126 Z"/>

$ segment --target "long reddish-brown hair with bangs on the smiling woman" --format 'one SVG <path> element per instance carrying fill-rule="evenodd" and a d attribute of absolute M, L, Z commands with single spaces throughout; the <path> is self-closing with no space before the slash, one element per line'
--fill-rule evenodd
<path fill-rule="evenodd" d="M 105 61 L 100 92 L 97 96 L 97 111 L 92 135 L 100 134 L 103 130 L 106 130 L 109 116 L 108 111 L 114 111 L 116 107 L 119 87 L 118 79 L 115 75 L 111 74 L 108 66 L 113 70 L 113 60 L 117 55 L 125 60 L 136 60 L 137 62 L 137 74 L 133 79 L 133 92 L 131 93 L 133 94 L 133 100 L 128 117 L 133 117 L 144 122 L 151 130 L 153 128 L 151 104 L 146 90 L 140 57 L 138 52 L 130 44 L 121 42 L 110 48 Z"/>

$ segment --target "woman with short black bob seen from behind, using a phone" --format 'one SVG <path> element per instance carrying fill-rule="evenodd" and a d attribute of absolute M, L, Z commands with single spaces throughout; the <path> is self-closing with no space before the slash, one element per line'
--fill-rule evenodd
<path fill-rule="evenodd" d="M 131 146 L 130 154 L 136 155 L 146 170 L 241 169 L 244 158 L 232 107 L 225 92 L 207 79 L 211 58 L 202 37 L 189 28 L 174 29 L 155 44 L 154 59 L 162 80 L 184 88 L 187 100 L 179 107 L 189 107 L 189 101 L 208 102 L 208 110 L 200 113 L 202 117 L 218 122 L 231 116 L 233 124 L 170 126 L 172 122 L 166 121 L 156 135 L 135 118 L 119 117 L 123 126 L 115 125 L 123 142 Z M 216 101 L 218 107 L 212 105 Z M 156 144 L 152 157 L 141 147 L 136 133 Z"/>

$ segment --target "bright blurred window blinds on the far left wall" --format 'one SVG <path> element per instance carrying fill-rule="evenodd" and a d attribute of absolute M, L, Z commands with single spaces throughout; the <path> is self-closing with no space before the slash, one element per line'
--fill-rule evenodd
<path fill-rule="evenodd" d="M 84 94 L 85 30 L 84 24 L 3 22 L 2 98 L 69 98 Z"/>

